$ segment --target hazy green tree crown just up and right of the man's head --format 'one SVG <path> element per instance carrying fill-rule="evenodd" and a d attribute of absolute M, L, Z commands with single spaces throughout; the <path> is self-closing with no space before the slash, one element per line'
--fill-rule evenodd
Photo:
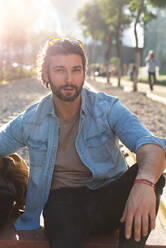
<path fill-rule="evenodd" d="M 131 23 L 130 16 L 124 12 L 128 4 L 129 0 L 93 0 L 86 3 L 77 14 L 85 37 L 105 41 L 110 32 L 118 30 L 122 34 Z"/>

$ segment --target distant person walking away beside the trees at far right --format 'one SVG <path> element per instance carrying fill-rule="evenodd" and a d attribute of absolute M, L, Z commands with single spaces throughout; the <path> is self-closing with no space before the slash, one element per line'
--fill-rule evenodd
<path fill-rule="evenodd" d="M 156 67 L 159 67 L 159 62 L 155 58 L 154 51 L 150 50 L 147 58 L 145 59 L 148 67 L 148 78 L 150 89 L 153 90 L 153 85 L 156 84 Z"/>

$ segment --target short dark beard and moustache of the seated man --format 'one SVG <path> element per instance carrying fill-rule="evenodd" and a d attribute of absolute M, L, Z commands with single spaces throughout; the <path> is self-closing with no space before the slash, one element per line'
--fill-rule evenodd
<path fill-rule="evenodd" d="M 64 102 L 72 102 L 72 101 L 74 101 L 81 94 L 82 87 L 83 87 L 83 84 L 84 84 L 84 80 L 83 80 L 83 82 L 82 82 L 80 87 L 78 87 L 76 85 L 72 85 L 72 84 L 64 84 L 64 85 L 61 85 L 59 87 L 56 87 L 51 79 L 49 79 L 49 82 L 50 82 L 50 87 L 51 87 L 52 93 L 56 97 L 58 97 L 60 100 L 62 100 Z M 66 94 L 66 95 L 63 94 L 61 90 L 63 90 L 63 89 L 65 90 L 67 88 L 75 89 L 74 95 L 71 96 L 70 93 Z"/>

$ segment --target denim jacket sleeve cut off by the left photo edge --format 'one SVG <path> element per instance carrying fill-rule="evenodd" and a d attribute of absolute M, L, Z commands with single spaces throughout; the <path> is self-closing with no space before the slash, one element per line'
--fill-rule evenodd
<path fill-rule="evenodd" d="M 0 155 L 6 156 L 25 146 L 23 114 L 0 128 Z"/>

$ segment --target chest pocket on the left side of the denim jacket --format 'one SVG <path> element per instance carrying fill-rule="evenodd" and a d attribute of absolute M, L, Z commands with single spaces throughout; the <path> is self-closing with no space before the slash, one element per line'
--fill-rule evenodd
<path fill-rule="evenodd" d="M 47 142 L 30 139 L 28 141 L 28 147 L 31 166 L 40 167 L 46 163 Z"/>

